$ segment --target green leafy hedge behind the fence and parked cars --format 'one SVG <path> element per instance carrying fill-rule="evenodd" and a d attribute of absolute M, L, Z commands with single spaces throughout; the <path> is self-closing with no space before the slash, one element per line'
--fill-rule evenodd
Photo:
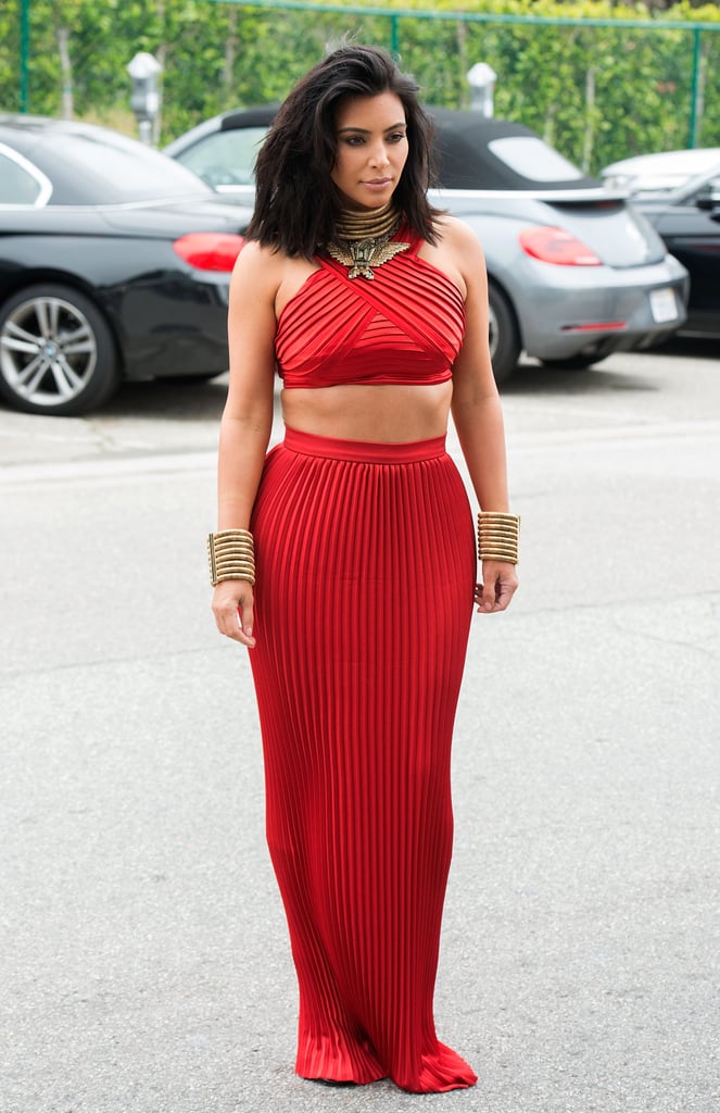
<path fill-rule="evenodd" d="M 30 0 L 28 102 L 32 112 L 59 116 L 62 88 L 71 87 L 80 118 L 134 131 L 126 66 L 138 50 L 164 66 L 161 130 L 165 142 L 207 116 L 238 105 L 280 99 L 293 81 L 343 36 L 389 46 L 391 20 L 377 14 L 249 8 L 208 0 Z M 0 109 L 20 102 L 20 6 L 0 9 Z M 389 6 L 407 11 L 457 11 L 452 0 Z M 432 104 L 463 107 L 465 73 L 476 61 L 497 72 L 495 115 L 522 120 L 590 170 L 618 158 L 686 147 L 690 140 L 692 32 L 653 30 L 644 6 L 603 0 L 465 0 L 465 16 L 494 13 L 561 19 L 605 19 L 611 27 L 472 22 L 402 16 L 397 46 L 403 68 Z M 643 27 L 629 27 L 641 20 Z M 684 0 L 662 21 L 702 21 L 720 31 L 716 4 Z M 67 35 L 70 70 L 59 37 Z M 720 145 L 720 35 L 701 36 L 701 112 L 698 145 Z"/>

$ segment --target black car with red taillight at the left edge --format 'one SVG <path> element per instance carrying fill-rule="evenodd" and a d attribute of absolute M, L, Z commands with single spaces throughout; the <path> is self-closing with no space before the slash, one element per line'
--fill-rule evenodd
<path fill-rule="evenodd" d="M 249 218 L 119 132 L 0 116 L 0 396 L 80 414 L 124 377 L 226 371 Z"/>

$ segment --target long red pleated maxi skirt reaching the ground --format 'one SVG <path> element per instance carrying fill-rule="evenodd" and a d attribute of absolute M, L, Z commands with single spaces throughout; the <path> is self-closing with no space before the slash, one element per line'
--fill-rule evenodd
<path fill-rule="evenodd" d="M 475 584 L 463 481 L 444 437 L 387 445 L 288 429 L 251 529 L 250 661 L 299 983 L 296 1071 L 471 1086 L 433 1020 Z"/>

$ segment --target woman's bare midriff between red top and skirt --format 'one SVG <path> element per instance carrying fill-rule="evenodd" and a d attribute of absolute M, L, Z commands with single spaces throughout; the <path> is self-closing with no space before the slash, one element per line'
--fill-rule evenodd
<path fill-rule="evenodd" d="M 407 444 L 444 436 L 453 396 L 446 383 L 348 384 L 283 391 L 283 420 L 290 429 L 342 441 Z"/>

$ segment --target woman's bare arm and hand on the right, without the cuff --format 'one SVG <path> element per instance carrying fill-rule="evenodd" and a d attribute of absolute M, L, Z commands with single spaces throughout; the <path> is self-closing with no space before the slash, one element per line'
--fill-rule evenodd
<path fill-rule="evenodd" d="M 465 338 L 453 365 L 452 414 L 481 510 L 509 512 L 505 433 L 489 346 L 487 275 L 474 233 L 461 221 L 448 227 L 465 283 Z M 502 611 L 517 588 L 514 564 L 483 561 L 479 610 Z"/>

